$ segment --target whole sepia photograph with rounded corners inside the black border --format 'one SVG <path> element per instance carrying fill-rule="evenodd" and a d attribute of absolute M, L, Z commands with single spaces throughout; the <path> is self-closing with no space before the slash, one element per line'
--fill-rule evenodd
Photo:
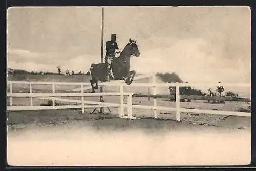
<path fill-rule="evenodd" d="M 250 7 L 6 16 L 10 166 L 251 163 Z"/>

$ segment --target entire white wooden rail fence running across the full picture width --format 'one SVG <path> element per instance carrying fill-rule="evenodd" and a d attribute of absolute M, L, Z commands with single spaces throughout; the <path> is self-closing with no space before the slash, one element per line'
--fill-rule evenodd
<path fill-rule="evenodd" d="M 84 93 L 84 85 L 89 86 L 90 83 L 65 83 L 65 82 L 26 82 L 26 81 L 8 81 L 10 84 L 10 92 L 7 93 L 7 97 L 10 97 L 10 106 L 7 110 L 48 110 L 48 109 L 69 109 L 69 108 L 95 108 L 95 107 L 119 107 L 119 116 L 125 118 L 135 118 L 132 116 L 132 108 L 141 109 L 152 109 L 154 112 L 154 118 L 157 118 L 157 110 L 166 111 L 176 111 L 176 120 L 180 121 L 180 112 L 188 113 L 204 113 L 204 114 L 217 114 L 217 115 L 234 115 L 234 116 L 247 116 L 251 117 L 251 112 L 234 112 L 234 111 L 216 111 L 216 110 L 203 110 L 203 109 L 185 109 L 180 107 L 180 87 L 182 86 L 238 86 L 238 87 L 250 87 L 250 84 L 233 84 L 233 83 L 156 83 L 156 77 L 153 75 L 152 83 L 132 83 L 129 86 L 137 87 L 153 87 L 153 95 L 156 94 L 157 87 L 176 87 L 176 107 L 162 107 L 157 106 L 157 99 L 154 98 L 153 106 L 147 105 L 133 105 L 132 95 L 133 93 L 123 92 L 123 88 L 127 86 L 125 83 L 98 83 L 99 86 L 120 86 L 119 93 Z M 30 93 L 13 93 L 13 84 L 29 84 Z M 52 93 L 32 93 L 33 84 L 45 84 L 52 85 Z M 55 93 L 55 85 L 80 85 L 81 93 Z M 77 91 L 77 90 L 76 90 Z M 58 97 L 68 97 L 68 96 L 79 96 L 81 101 L 72 99 L 62 99 Z M 116 103 L 104 103 L 104 102 L 92 102 L 84 101 L 84 96 L 120 96 L 120 104 Z M 128 96 L 127 104 L 124 104 L 124 96 Z M 30 97 L 30 106 L 12 106 L 12 97 Z M 51 99 L 53 101 L 53 106 L 33 106 L 33 97 L 41 97 L 41 99 Z M 251 97 L 250 97 L 251 98 Z M 55 106 L 55 100 L 66 101 L 66 102 L 77 102 L 81 105 L 65 105 L 65 106 Z M 94 104 L 94 105 L 84 105 L 84 103 Z M 128 116 L 124 116 L 124 107 L 127 107 Z"/>

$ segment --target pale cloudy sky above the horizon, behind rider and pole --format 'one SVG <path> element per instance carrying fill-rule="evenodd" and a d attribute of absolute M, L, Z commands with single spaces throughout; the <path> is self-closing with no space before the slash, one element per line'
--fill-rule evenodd
<path fill-rule="evenodd" d="M 137 40 L 137 73 L 176 72 L 188 82 L 251 81 L 248 7 L 105 7 L 105 43 Z M 87 72 L 101 58 L 101 7 L 19 7 L 7 13 L 7 66 Z"/>

